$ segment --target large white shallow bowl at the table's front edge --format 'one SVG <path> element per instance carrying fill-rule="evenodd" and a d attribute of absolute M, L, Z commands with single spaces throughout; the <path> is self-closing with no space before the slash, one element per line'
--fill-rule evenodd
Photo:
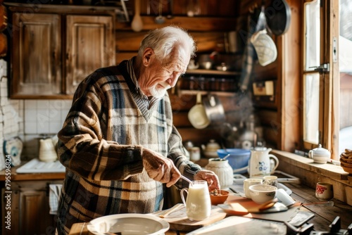
<path fill-rule="evenodd" d="M 87 229 L 96 235 L 106 232 L 129 235 L 162 235 L 168 231 L 170 224 L 155 215 L 144 214 L 119 214 L 106 215 L 89 222 Z"/>

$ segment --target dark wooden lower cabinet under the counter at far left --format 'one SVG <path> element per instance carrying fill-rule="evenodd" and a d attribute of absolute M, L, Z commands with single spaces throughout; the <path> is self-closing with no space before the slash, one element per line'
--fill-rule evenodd
<path fill-rule="evenodd" d="M 49 215 L 49 184 L 62 184 L 62 180 L 11 182 L 11 230 L 2 224 L 2 234 L 55 234 L 56 216 Z M 2 189 L 4 198 L 8 193 Z M 6 201 L 2 204 L 5 218 Z"/>

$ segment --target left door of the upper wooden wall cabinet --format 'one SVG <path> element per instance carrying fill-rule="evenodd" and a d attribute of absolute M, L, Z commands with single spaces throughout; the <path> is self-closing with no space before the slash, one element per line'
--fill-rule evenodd
<path fill-rule="evenodd" d="M 60 94 L 61 15 L 13 13 L 12 33 L 11 96 Z"/>

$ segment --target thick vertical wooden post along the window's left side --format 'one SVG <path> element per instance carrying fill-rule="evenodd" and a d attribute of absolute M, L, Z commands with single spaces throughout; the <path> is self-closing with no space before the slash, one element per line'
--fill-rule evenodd
<path fill-rule="evenodd" d="M 279 101 L 279 115 L 277 125 L 281 134 L 278 135 L 278 148 L 293 152 L 301 139 L 301 39 L 302 12 L 301 1 L 289 0 L 291 8 L 291 25 L 289 30 L 277 38 L 278 65 L 277 65 L 277 89 L 282 91 L 277 99 Z M 280 97 L 281 96 L 281 97 Z"/>

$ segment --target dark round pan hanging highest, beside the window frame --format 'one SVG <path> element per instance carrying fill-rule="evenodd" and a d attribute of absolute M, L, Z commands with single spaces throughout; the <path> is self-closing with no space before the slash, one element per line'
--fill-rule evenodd
<path fill-rule="evenodd" d="M 291 23 L 291 8 L 285 0 L 272 0 L 265 8 L 265 18 L 270 31 L 279 36 L 287 32 Z"/>

